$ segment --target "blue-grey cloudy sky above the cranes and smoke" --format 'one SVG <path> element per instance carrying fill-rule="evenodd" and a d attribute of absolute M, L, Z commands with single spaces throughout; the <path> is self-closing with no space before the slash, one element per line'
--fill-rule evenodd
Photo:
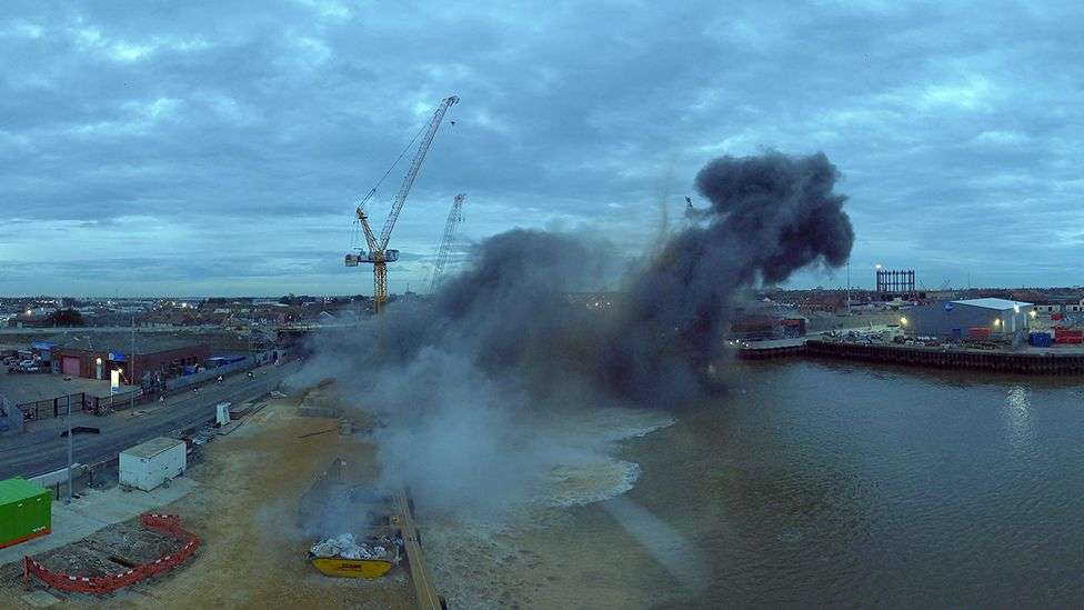
<path fill-rule="evenodd" d="M 952 8 L 945 4 L 952 4 Z M 1076 2 L 6 2 L 0 293 L 369 293 L 352 210 L 446 94 L 392 247 L 658 237 L 713 157 L 824 151 L 852 278 L 1082 284 Z M 401 172 L 381 189 L 382 219 Z M 381 211 L 383 210 L 383 211 Z M 380 222 L 378 222 L 380 224 Z M 794 286 L 841 286 L 810 272 Z"/>

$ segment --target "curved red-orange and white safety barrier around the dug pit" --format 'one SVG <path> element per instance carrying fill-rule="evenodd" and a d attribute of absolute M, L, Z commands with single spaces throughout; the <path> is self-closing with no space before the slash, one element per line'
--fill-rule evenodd
<path fill-rule="evenodd" d="M 60 589 L 61 591 L 91 593 L 96 596 L 112 593 L 118 589 L 134 584 L 145 578 L 172 570 L 192 557 L 195 549 L 200 547 L 199 537 L 181 529 L 181 519 L 175 514 L 147 513 L 140 516 L 140 521 L 142 521 L 143 527 L 172 536 L 183 541 L 184 544 L 175 553 L 155 559 L 150 563 L 138 566 L 126 572 L 107 577 L 80 577 L 63 572 L 53 572 L 27 556 L 23 557 L 23 578 L 27 584 L 30 584 L 31 578 L 37 578 L 49 587 Z"/>

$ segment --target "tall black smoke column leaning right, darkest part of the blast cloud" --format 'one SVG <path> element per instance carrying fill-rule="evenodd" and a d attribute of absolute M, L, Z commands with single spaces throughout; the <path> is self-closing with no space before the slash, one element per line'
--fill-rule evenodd
<path fill-rule="evenodd" d="M 723 157 L 696 176 L 711 202 L 632 282 L 608 353 L 608 381 L 636 399 L 681 402 L 711 389 L 735 292 L 812 266 L 846 262 L 854 230 L 823 153 Z"/>

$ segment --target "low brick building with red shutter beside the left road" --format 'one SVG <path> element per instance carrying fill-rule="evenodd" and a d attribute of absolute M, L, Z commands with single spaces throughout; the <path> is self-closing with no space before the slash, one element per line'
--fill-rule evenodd
<path fill-rule="evenodd" d="M 71 377 L 110 378 L 118 370 L 126 383 L 131 379 L 153 387 L 167 379 L 194 372 L 211 356 L 205 344 L 179 337 L 140 334 L 132 357 L 132 337 L 127 333 L 78 336 L 57 339 L 49 346 L 52 370 Z M 131 367 L 129 367 L 131 362 Z M 134 378 L 130 373 L 134 372 Z"/>

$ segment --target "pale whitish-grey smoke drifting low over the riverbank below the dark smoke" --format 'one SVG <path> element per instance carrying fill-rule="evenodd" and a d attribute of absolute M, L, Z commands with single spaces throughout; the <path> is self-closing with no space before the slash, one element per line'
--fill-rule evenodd
<path fill-rule="evenodd" d="M 382 339 L 375 328 L 370 331 L 362 346 L 350 337 L 324 338 L 309 368 L 337 380 L 328 390 L 340 403 L 377 413 L 382 491 L 406 486 L 426 512 L 498 524 L 528 517 L 532 508 L 585 503 L 631 487 L 615 477 L 592 481 L 600 469 L 612 469 L 620 439 L 573 423 L 580 411 L 612 400 L 574 382 L 545 397 L 532 393 L 519 374 L 492 374 L 475 363 L 471 337 L 421 347 L 405 361 L 373 364 L 380 360 L 378 343 L 395 338 L 389 329 Z"/>

